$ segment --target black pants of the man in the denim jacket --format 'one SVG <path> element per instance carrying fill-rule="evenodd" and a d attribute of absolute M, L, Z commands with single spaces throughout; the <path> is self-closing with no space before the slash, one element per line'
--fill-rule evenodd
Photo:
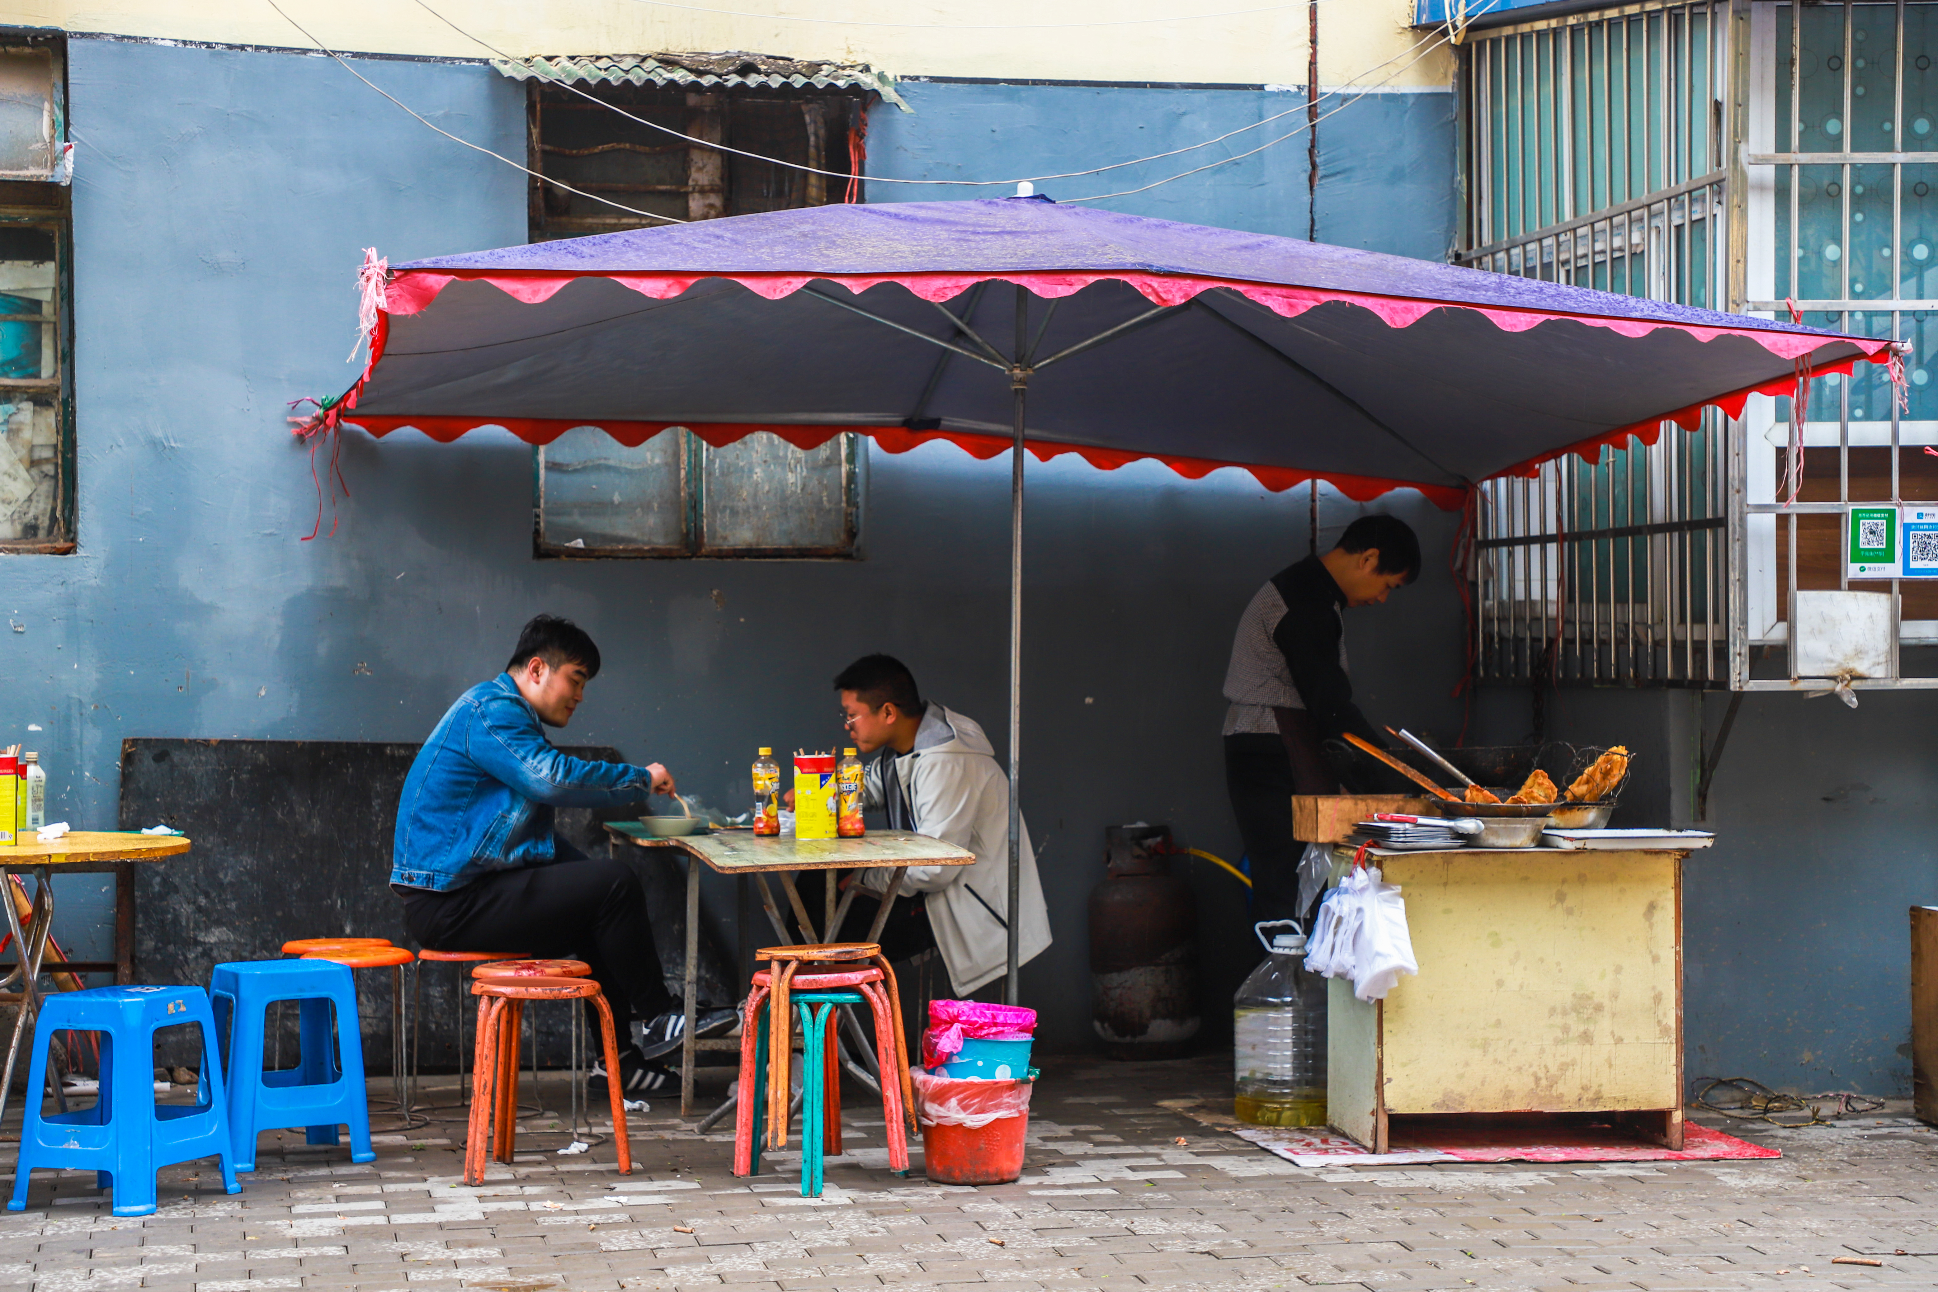
<path fill-rule="evenodd" d="M 419 945 L 436 951 L 525 951 L 585 961 L 612 1007 L 620 1044 L 634 1017 L 680 1009 L 659 967 L 645 893 L 626 862 L 498 870 L 450 893 L 409 889 L 403 926 Z"/>

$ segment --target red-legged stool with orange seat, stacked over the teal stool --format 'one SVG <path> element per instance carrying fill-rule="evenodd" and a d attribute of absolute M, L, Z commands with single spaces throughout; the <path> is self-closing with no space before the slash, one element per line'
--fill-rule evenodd
<path fill-rule="evenodd" d="M 855 969 L 841 970 L 798 970 L 789 974 L 789 986 L 800 992 L 835 992 L 853 990 L 860 992 L 868 1000 L 870 1013 L 874 1015 L 874 1052 L 876 1063 L 882 1073 L 882 1122 L 888 1127 L 888 1166 L 897 1174 L 907 1174 L 909 1170 L 909 1133 L 907 1116 L 909 1104 L 903 1102 L 903 1089 L 907 1081 L 907 1060 L 899 1058 L 901 1048 L 895 1044 L 897 1036 L 891 1036 L 895 1029 L 895 1011 L 890 998 L 890 982 L 878 965 L 857 965 Z M 754 988 L 746 996 L 746 1007 L 740 1015 L 740 1094 L 735 1102 L 735 1137 L 733 1137 L 733 1174 L 752 1176 L 756 1166 L 754 1149 L 754 1120 L 756 1120 L 756 1065 L 760 1063 L 760 1011 L 762 1005 L 773 1001 L 767 1015 L 767 1034 L 769 1042 L 775 1031 L 773 1019 L 779 1017 L 781 996 L 773 992 L 773 974 L 767 970 L 754 974 Z M 833 1032 L 833 1013 L 828 1015 L 829 1032 Z M 828 1065 L 828 1075 L 824 1077 L 826 1091 L 826 1112 L 822 1114 L 824 1145 L 831 1154 L 841 1154 L 841 1087 L 839 1087 L 839 1065 L 835 1061 L 835 1046 L 829 1034 L 824 1046 L 824 1061 Z M 769 1044 L 769 1056 L 773 1046 Z M 793 1052 L 785 1052 L 793 1058 Z M 781 1067 L 781 1098 L 773 1098 L 773 1077 L 767 1085 L 767 1147 L 777 1147 L 787 1143 L 787 1120 L 789 1120 L 789 1094 L 793 1091 L 793 1079 L 787 1067 Z M 779 1102 L 779 1118 L 773 1116 L 773 1106 Z M 816 1110 L 802 1108 L 800 1116 L 814 1116 Z M 775 1125 L 779 1122 L 779 1127 Z"/>

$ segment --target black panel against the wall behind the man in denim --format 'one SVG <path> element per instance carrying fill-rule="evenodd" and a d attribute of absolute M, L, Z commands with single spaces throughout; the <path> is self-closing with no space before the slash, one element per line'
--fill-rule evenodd
<path fill-rule="evenodd" d="M 417 750 L 349 740 L 124 740 L 120 827 L 161 821 L 194 845 L 184 856 L 136 868 L 136 980 L 207 986 L 213 965 L 277 959 L 291 938 L 388 938 L 415 951 L 403 930 L 403 903 L 390 891 L 390 850 Z M 603 746 L 564 752 L 622 761 L 618 750 Z M 607 856 L 591 810 L 560 810 L 558 829 L 587 854 Z M 684 854 L 628 848 L 622 856 L 640 872 L 661 969 L 678 990 Z M 702 998 L 733 1000 L 729 961 L 717 953 L 705 920 L 702 947 Z M 426 967 L 421 992 L 417 967 L 407 969 L 405 990 L 422 1003 L 413 1029 L 422 1071 L 455 1067 L 459 969 Z M 357 1005 L 366 1069 L 388 1073 L 391 976 L 357 970 Z M 293 1056 L 297 1017 L 285 1013 L 283 1054 Z M 539 1061 L 562 1065 L 566 1011 L 535 1009 L 527 1017 L 539 1029 Z M 194 1065 L 196 1056 L 167 1061 Z"/>

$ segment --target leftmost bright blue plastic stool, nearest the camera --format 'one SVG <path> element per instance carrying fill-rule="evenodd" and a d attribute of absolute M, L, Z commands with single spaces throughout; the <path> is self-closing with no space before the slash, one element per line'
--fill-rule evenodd
<path fill-rule="evenodd" d="M 155 1102 L 155 1031 L 176 1023 L 202 1027 L 196 1104 Z M 103 1034 L 101 1094 L 93 1108 L 52 1116 L 41 1116 L 41 1100 L 27 1100 L 8 1211 L 27 1205 L 27 1176 L 47 1168 L 93 1168 L 99 1187 L 114 1189 L 116 1216 L 153 1215 L 155 1172 L 174 1162 L 219 1158 L 223 1187 L 242 1191 L 229 1151 L 215 1017 L 202 988 L 93 988 L 41 998 L 29 1091 L 45 1087 L 47 1046 L 64 1031 Z"/>

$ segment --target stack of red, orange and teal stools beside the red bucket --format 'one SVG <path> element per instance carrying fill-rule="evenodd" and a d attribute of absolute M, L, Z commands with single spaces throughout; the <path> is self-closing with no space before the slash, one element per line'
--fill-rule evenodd
<path fill-rule="evenodd" d="M 833 1011 L 837 1005 L 870 1007 L 874 1017 L 876 1061 L 882 1071 L 882 1123 L 888 1133 L 888 1166 L 897 1176 L 909 1172 L 909 1131 L 903 1102 L 903 1085 L 895 1071 L 897 1048 L 890 1031 L 895 1015 L 890 1007 L 888 982 L 876 965 L 831 972 L 795 972 L 791 976 L 789 1007 L 800 1021 L 800 1195 L 820 1197 L 824 1154 L 841 1153 L 841 1069 L 835 1061 Z M 771 1009 L 764 1009 L 775 1001 Z M 736 1176 L 752 1176 L 760 1170 L 760 1145 L 787 1143 L 785 1125 L 775 1127 L 773 1120 L 785 1120 L 787 1094 L 793 1089 L 787 1067 L 779 1075 L 781 1098 L 773 1100 L 773 1077 L 762 1063 L 762 1050 L 773 1054 L 769 1019 L 777 1013 L 779 996 L 773 994 L 773 974 L 756 972 L 754 988 L 746 998 L 746 1011 L 740 1027 L 740 1098 L 735 1108 L 735 1162 Z M 779 1102 L 781 1112 L 773 1114 Z M 779 1131 L 779 1133 L 777 1133 Z"/>

